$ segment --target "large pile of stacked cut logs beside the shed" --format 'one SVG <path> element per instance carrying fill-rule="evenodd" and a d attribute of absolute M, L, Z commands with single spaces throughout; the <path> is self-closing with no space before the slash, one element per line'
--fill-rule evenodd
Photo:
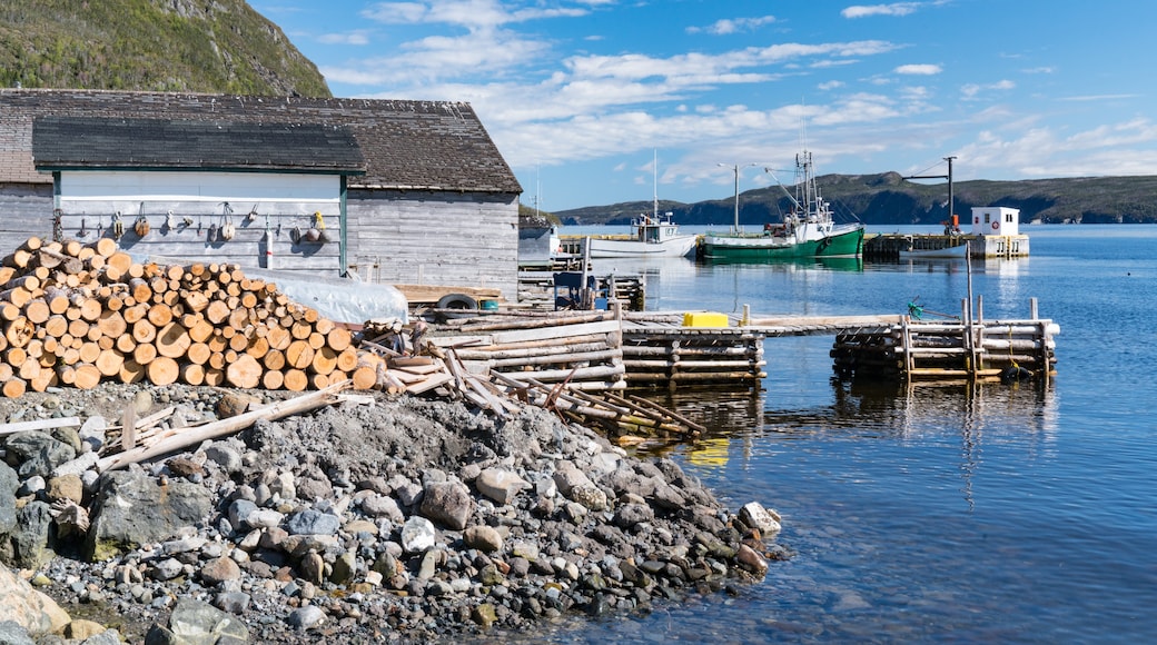
<path fill-rule="evenodd" d="M 30 238 L 0 267 L 5 396 L 101 380 L 378 387 L 386 359 L 234 265 L 134 262 L 109 238 Z"/>

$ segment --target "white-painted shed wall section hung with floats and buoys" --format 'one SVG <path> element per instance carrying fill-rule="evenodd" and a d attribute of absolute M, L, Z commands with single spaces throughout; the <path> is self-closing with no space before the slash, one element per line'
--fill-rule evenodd
<path fill-rule="evenodd" d="M 80 242 L 111 237 L 113 214 L 119 213 L 124 235 L 117 242 L 141 258 L 229 262 L 333 277 L 342 272 L 340 179 L 336 176 L 61 172 L 59 207 L 62 237 Z M 167 224 L 170 210 L 172 227 Z M 330 242 L 295 244 L 290 231 L 314 227 L 318 212 Z M 133 230 L 141 214 L 149 223 L 143 237 Z M 229 221 L 236 232 L 223 239 L 220 229 Z"/>

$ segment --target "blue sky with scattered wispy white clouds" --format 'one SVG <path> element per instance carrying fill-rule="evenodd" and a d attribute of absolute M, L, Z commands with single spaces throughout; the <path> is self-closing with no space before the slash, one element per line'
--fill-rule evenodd
<path fill-rule="evenodd" d="M 470 103 L 548 212 L 790 184 L 804 148 L 819 175 L 1157 175 L 1152 0 L 250 6 L 333 96 Z"/>

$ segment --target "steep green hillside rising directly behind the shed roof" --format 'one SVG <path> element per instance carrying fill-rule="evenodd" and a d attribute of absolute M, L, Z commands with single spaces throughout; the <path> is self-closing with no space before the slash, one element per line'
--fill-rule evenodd
<path fill-rule="evenodd" d="M 0 87 L 331 96 L 244 0 L 2 1 Z"/>

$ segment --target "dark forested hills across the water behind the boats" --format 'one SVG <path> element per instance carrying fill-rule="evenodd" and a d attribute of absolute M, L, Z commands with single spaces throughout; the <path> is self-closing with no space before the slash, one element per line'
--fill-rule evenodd
<path fill-rule="evenodd" d="M 908 181 L 897 172 L 825 175 L 817 178 L 837 220 L 858 217 L 867 224 L 938 224 L 948 220 L 948 184 Z M 790 190 L 790 188 L 789 188 Z M 1020 210 L 1020 221 L 1044 223 L 1157 223 L 1157 176 L 1078 177 L 1025 181 L 956 181 L 956 214 L 967 227 L 973 206 L 1007 206 Z M 739 222 L 761 225 L 780 221 L 790 201 L 779 186 L 739 193 Z M 563 224 L 628 224 L 650 213 L 651 201 L 590 206 L 554 213 Z M 683 203 L 659 201 L 680 224 L 729 225 L 735 197 Z"/>

